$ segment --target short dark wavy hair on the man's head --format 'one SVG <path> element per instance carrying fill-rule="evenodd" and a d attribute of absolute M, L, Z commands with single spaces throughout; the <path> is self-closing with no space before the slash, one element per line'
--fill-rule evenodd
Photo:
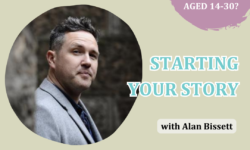
<path fill-rule="evenodd" d="M 87 31 L 91 33 L 98 41 L 98 31 L 92 26 L 91 20 L 86 17 L 73 18 L 68 17 L 50 34 L 50 50 L 60 50 L 63 44 L 63 37 L 66 32 Z"/>

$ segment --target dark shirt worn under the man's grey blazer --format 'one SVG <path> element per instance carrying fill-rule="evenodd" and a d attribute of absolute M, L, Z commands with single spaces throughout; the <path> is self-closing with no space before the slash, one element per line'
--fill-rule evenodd
<path fill-rule="evenodd" d="M 54 84 L 55 85 L 55 84 Z M 77 114 L 79 115 L 79 117 L 82 119 L 84 125 L 86 126 L 86 128 L 88 129 L 90 135 L 92 136 L 92 138 L 94 139 L 93 137 L 93 132 L 92 132 L 92 129 L 91 129 L 91 125 L 90 125 L 90 121 L 87 117 L 87 114 L 86 112 L 83 110 L 82 106 L 80 104 L 77 104 L 72 98 L 70 98 L 68 96 L 68 94 L 66 94 L 63 90 L 61 90 L 58 86 L 55 85 L 55 87 L 60 90 L 63 95 L 69 100 L 69 102 L 71 103 L 71 105 L 74 107 L 74 109 L 76 110 Z M 94 139 L 95 140 L 95 139 Z"/>

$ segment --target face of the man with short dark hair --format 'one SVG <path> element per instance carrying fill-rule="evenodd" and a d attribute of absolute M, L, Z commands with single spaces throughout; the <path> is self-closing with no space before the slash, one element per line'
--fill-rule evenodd
<path fill-rule="evenodd" d="M 99 56 L 96 39 L 91 33 L 66 33 L 55 56 L 55 77 L 65 90 L 82 92 L 90 87 L 96 77 Z"/>

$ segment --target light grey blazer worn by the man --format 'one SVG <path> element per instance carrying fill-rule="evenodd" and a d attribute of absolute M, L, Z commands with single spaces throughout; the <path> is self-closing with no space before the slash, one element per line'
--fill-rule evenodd
<path fill-rule="evenodd" d="M 94 139 L 68 99 L 47 79 L 36 90 L 35 133 L 64 144 L 85 145 L 102 140 L 88 110 Z"/>

